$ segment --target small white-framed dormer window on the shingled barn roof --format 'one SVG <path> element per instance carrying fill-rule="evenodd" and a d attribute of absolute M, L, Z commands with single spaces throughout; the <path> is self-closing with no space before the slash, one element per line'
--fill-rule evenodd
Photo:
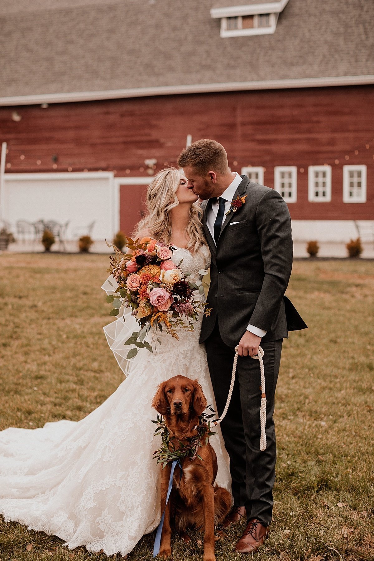
<path fill-rule="evenodd" d="M 265 35 L 275 33 L 279 13 L 289 0 L 240 3 L 239 6 L 212 8 L 210 15 L 221 20 L 221 37 Z"/>

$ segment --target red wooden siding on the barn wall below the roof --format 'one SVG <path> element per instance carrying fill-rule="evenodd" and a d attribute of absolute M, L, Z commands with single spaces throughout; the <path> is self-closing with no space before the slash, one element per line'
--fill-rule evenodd
<path fill-rule="evenodd" d="M 156 171 L 175 164 L 187 134 L 213 138 L 227 149 L 234 171 L 264 166 L 270 187 L 276 165 L 297 166 L 298 200 L 289 204 L 293 219 L 373 219 L 373 96 L 374 86 L 350 86 L 0 108 L 0 140 L 8 142 L 6 171 L 51 172 L 56 154 L 56 171 L 146 176 L 144 160 L 156 158 Z M 20 122 L 12 121 L 13 111 Z M 308 165 L 325 163 L 332 167 L 331 203 L 309 203 Z M 367 165 L 366 204 L 343 203 L 347 163 Z"/>

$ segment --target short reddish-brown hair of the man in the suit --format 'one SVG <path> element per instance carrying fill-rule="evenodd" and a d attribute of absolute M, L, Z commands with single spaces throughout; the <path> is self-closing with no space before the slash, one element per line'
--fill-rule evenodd
<path fill-rule="evenodd" d="M 226 173 L 228 169 L 227 153 L 223 146 L 215 140 L 196 140 L 188 148 L 182 150 L 178 158 L 178 165 L 180 168 L 191 165 L 202 177 L 209 171 Z"/>

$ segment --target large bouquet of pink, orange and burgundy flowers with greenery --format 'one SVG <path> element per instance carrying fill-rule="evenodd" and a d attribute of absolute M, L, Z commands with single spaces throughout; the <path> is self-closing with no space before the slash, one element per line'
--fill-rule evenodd
<path fill-rule="evenodd" d="M 132 240 L 126 237 L 125 247 L 130 250 L 124 254 L 112 246 L 115 255 L 110 256 L 108 272 L 116 279 L 118 287 L 107 302 L 113 305 L 110 316 L 117 316 L 125 308 L 130 308 L 140 325 L 138 332 L 132 333 L 124 343 L 133 345 L 127 358 L 132 358 L 139 348 L 153 352 L 151 344 L 145 341 L 146 335 L 153 329 L 153 335 L 163 329 L 178 339 L 177 327 L 193 331 L 193 324 L 198 313 L 204 310 L 206 302 L 201 298 L 193 299 L 193 291 L 204 294 L 201 282 L 190 282 L 191 273 L 183 273 L 179 263 L 173 261 L 173 246 L 152 238 Z M 199 274 L 206 274 L 205 270 Z M 205 314 L 209 314 L 206 310 Z M 124 318 L 123 318 L 124 319 Z"/>

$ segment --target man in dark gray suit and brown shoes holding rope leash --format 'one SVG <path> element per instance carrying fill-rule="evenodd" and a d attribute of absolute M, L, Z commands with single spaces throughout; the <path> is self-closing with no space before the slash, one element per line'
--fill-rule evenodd
<path fill-rule="evenodd" d="M 225 525 L 246 514 L 247 527 L 235 549 L 253 553 L 264 542 L 273 510 L 274 394 L 282 342 L 288 331 L 307 327 L 284 296 L 292 269 L 290 215 L 278 192 L 230 171 L 219 142 L 193 142 L 178 165 L 188 187 L 204 200 L 202 222 L 211 252 L 207 301 L 213 310 L 204 316 L 200 342 L 206 346 L 218 415 L 226 404 L 234 348 L 239 346 L 234 390 L 221 423 L 234 498 Z M 267 399 L 264 452 L 260 365 L 251 358 L 260 343 Z"/>

